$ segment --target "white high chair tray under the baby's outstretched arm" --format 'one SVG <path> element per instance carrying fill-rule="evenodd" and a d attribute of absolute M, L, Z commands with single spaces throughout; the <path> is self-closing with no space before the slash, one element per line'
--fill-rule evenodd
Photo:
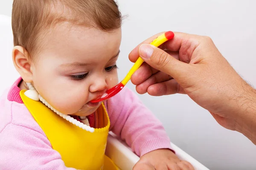
<path fill-rule="evenodd" d="M 195 170 L 209 170 L 203 164 L 189 156 L 186 152 L 181 150 L 175 144 L 171 143 L 176 155 L 182 159 L 190 162 Z M 139 161 L 139 157 L 132 152 L 131 148 L 125 144 L 124 141 L 119 139 L 112 132 L 108 136 L 108 144 L 106 148 L 106 155 L 119 167 L 120 170 L 132 170 L 134 165 Z"/>

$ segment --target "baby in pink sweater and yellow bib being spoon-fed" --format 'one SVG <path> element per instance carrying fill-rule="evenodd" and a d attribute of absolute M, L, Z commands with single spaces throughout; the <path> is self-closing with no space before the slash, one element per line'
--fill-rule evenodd
<path fill-rule="evenodd" d="M 114 0 L 14 0 L 20 78 L 0 99 L 0 169 L 102 169 L 109 130 L 140 156 L 134 170 L 193 169 L 128 88 L 90 102 L 118 83 L 121 23 Z"/>

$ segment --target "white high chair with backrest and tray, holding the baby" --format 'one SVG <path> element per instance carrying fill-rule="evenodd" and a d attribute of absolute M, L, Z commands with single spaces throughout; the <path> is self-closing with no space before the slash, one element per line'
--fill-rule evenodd
<path fill-rule="evenodd" d="M 12 65 L 12 26 L 11 18 L 5 15 L 0 15 L 0 51 L 1 51 L 1 62 L 0 62 L 0 72 L 8 72 L 8 76 L 1 78 L 6 79 L 6 83 L 11 85 L 15 78 L 18 77 L 18 74 L 14 70 Z M 9 69 L 10 68 L 10 69 Z M 9 69 L 8 71 L 6 71 Z M 4 75 L 5 76 L 5 75 Z M 7 79 L 9 77 L 9 79 Z M 13 79 L 12 79 L 13 77 Z M 3 92 L 3 88 L 0 87 L 0 94 Z M 200 162 L 189 156 L 186 152 L 181 150 L 175 144 L 172 144 L 173 150 L 175 150 L 176 155 L 182 159 L 190 162 L 195 170 L 209 170 L 207 167 L 202 165 Z M 120 168 L 120 170 L 132 170 L 134 164 L 140 159 L 135 153 L 132 152 L 125 142 L 118 139 L 113 133 L 109 133 L 108 144 L 106 148 L 106 155 L 110 157 L 113 162 Z"/>

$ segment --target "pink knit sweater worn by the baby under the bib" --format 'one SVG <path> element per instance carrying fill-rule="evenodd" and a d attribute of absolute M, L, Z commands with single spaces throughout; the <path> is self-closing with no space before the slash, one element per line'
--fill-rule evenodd
<path fill-rule="evenodd" d="M 0 98 L 1 170 L 73 170 L 65 167 L 60 154 L 52 149 L 44 131 L 23 104 L 18 79 Z M 111 127 L 142 156 L 152 150 L 169 148 L 170 141 L 155 116 L 128 88 L 104 102 Z"/>

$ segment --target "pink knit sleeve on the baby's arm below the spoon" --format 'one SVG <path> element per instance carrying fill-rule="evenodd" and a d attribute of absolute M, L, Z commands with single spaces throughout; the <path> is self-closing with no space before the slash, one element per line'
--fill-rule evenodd
<path fill-rule="evenodd" d="M 139 156 L 157 149 L 171 149 L 162 123 L 128 88 L 106 102 L 111 131 Z"/>

